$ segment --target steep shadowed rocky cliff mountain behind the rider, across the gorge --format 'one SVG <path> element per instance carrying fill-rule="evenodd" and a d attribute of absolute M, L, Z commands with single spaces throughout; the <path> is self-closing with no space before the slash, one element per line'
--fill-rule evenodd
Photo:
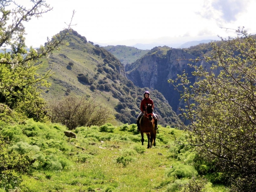
<path fill-rule="evenodd" d="M 188 66 L 188 60 L 178 59 L 196 59 L 196 56 L 185 52 L 182 49 L 174 49 L 168 46 L 155 47 L 144 57 L 135 61 L 131 65 L 125 66 L 126 76 L 135 85 L 139 87 L 149 87 L 161 92 L 172 109 L 178 114 L 180 95 L 174 90 L 172 84 L 168 83 L 169 79 L 176 79 L 177 74 L 182 74 L 186 70 L 190 81 L 195 82 L 195 77 L 191 75 L 192 68 Z M 209 67 L 209 64 L 201 61 L 202 64 Z"/>

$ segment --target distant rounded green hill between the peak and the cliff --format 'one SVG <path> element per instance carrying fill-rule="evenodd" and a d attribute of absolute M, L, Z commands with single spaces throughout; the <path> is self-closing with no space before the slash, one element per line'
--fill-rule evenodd
<path fill-rule="evenodd" d="M 141 50 L 135 47 L 129 47 L 125 45 L 108 45 L 104 47 L 107 51 L 111 52 L 117 59 L 121 61 L 124 66 L 126 64 L 131 64 L 137 59 L 144 56 L 149 50 Z"/>

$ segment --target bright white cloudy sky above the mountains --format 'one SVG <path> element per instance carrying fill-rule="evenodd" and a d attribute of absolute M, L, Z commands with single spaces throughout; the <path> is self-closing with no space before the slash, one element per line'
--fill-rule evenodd
<path fill-rule="evenodd" d="M 27 1 L 26 3 L 24 3 Z M 29 0 L 22 0 L 27 8 Z M 46 0 L 53 10 L 25 24 L 26 45 L 39 47 L 66 28 L 94 44 L 163 46 L 219 36 L 238 27 L 256 34 L 255 0 Z M 230 29 L 226 29 L 230 28 Z M 153 46 L 154 47 L 154 46 Z M 153 48 L 152 47 L 152 48 Z"/>

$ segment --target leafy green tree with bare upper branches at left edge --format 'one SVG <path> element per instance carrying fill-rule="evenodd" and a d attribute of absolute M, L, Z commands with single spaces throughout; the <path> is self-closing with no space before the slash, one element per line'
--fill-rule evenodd
<path fill-rule="evenodd" d="M 29 118 L 43 120 L 46 116 L 46 102 L 40 93 L 50 85 L 45 79 L 51 74 L 48 71 L 45 75 L 38 75 L 36 70 L 42 65 L 35 63 L 39 58 L 47 57 L 49 52 L 59 50 L 61 45 L 68 44 L 64 38 L 70 30 L 71 22 L 52 39 L 47 37 L 45 46 L 41 45 L 39 50 L 30 47 L 28 52 L 23 23 L 41 17 L 52 8 L 44 0 L 31 0 L 33 6 L 30 9 L 13 0 L 0 0 L 0 4 L 0 48 L 3 50 L 0 53 L 0 103 Z M 14 8 L 9 10 L 10 6 Z M 11 48 L 11 51 L 7 52 L 6 48 Z"/>

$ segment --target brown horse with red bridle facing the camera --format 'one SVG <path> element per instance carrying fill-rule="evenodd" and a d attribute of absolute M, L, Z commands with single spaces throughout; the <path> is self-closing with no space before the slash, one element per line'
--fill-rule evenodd
<path fill-rule="evenodd" d="M 140 134 L 142 145 L 144 143 L 144 133 L 146 133 L 148 136 L 148 148 L 152 147 L 153 140 L 154 146 L 156 146 L 155 119 L 153 118 L 153 109 L 151 104 L 147 104 L 146 114 L 140 118 Z"/>

